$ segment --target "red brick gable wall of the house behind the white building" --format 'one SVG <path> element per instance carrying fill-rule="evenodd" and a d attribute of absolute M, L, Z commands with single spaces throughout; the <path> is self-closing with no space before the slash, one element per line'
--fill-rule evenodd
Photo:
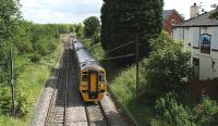
<path fill-rule="evenodd" d="M 164 29 L 169 35 L 172 35 L 172 20 L 174 20 L 174 25 L 184 22 L 184 18 L 175 10 L 172 10 L 171 14 L 167 18 L 164 18 Z"/>

